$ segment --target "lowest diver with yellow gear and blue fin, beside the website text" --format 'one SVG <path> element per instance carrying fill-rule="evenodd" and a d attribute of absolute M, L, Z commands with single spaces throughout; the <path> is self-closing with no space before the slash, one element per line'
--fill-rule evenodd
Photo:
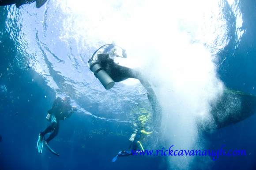
<path fill-rule="evenodd" d="M 119 156 L 129 156 L 135 155 L 136 153 L 144 152 L 143 142 L 146 142 L 146 139 L 151 136 L 153 131 L 150 130 L 148 126 L 145 126 L 148 122 L 150 122 L 151 114 L 147 112 L 145 109 L 140 109 L 140 113 L 145 113 L 145 115 L 140 115 L 137 123 L 134 123 L 134 132 L 129 138 L 129 151 L 121 150 L 117 153 L 117 155 L 112 159 L 112 162 L 116 162 Z M 139 125 L 139 126 L 138 126 Z M 138 130 L 139 129 L 139 130 Z M 147 130 L 147 131 L 146 131 Z"/>

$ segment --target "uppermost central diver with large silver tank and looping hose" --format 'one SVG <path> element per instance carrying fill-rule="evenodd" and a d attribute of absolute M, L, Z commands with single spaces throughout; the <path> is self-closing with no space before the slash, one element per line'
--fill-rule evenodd
<path fill-rule="evenodd" d="M 109 46 L 109 49 L 111 49 L 117 45 L 105 44 L 98 48 L 98 50 L 105 46 Z M 125 50 L 123 48 L 121 49 L 123 51 L 123 57 L 126 58 L 127 55 Z M 99 79 L 99 81 L 107 90 L 114 86 L 114 82 L 124 81 L 128 78 L 138 79 L 143 87 L 147 90 L 147 98 L 152 106 L 154 121 L 152 129 L 153 131 L 158 132 L 162 122 L 162 107 L 160 106 L 160 103 L 158 102 L 156 94 L 151 88 L 150 83 L 145 78 L 143 78 L 141 72 L 138 70 L 120 66 L 115 63 L 114 60 L 109 57 L 108 53 L 98 54 L 98 58 L 94 60 L 94 55 L 98 52 L 98 50 L 94 52 L 91 59 L 88 61 L 88 63 L 90 63 L 90 70 L 94 72 L 94 75 Z"/>

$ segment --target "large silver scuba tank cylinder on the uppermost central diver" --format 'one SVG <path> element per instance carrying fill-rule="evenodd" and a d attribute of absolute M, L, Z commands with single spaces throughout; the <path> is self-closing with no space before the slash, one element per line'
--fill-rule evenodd
<path fill-rule="evenodd" d="M 95 77 L 99 79 L 105 89 L 109 90 L 115 85 L 113 79 L 103 70 L 98 60 L 90 61 L 90 70 L 94 73 Z"/>

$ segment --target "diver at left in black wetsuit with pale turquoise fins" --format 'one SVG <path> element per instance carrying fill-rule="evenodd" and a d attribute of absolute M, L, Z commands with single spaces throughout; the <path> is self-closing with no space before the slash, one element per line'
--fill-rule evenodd
<path fill-rule="evenodd" d="M 49 147 L 49 141 L 57 136 L 59 127 L 60 127 L 60 120 L 69 118 L 72 115 L 72 113 L 76 111 L 76 107 L 71 106 L 70 103 L 71 103 L 70 97 L 65 97 L 64 100 L 58 97 L 54 100 L 53 106 L 48 111 L 48 114 L 46 116 L 46 119 L 49 122 L 51 122 L 51 124 L 43 132 L 40 132 L 38 135 L 38 142 L 37 142 L 38 153 L 42 153 L 43 144 L 45 144 L 45 146 L 49 148 L 49 150 L 53 154 L 59 155 L 58 153 L 53 151 L 52 148 Z M 51 134 L 47 139 L 45 139 L 45 134 L 47 133 L 51 133 Z"/>

